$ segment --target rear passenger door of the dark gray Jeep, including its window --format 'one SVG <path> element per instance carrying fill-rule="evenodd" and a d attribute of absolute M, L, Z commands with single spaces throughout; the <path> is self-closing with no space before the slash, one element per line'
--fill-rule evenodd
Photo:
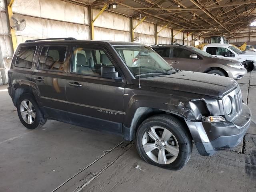
<path fill-rule="evenodd" d="M 43 45 L 39 48 L 37 62 L 31 76 L 39 97 L 39 105 L 46 116 L 69 122 L 67 116 L 65 78 L 68 46 L 62 44 Z"/>

